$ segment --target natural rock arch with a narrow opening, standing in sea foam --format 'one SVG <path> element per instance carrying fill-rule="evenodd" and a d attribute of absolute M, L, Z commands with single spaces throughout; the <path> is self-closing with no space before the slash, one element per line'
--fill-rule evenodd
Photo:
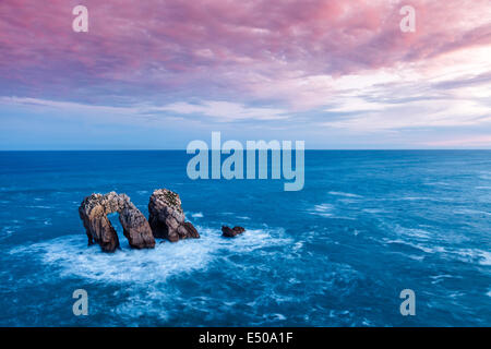
<path fill-rule="evenodd" d="M 118 234 L 107 218 L 107 215 L 115 212 L 119 213 L 119 221 L 131 248 L 155 246 L 155 239 L 145 216 L 128 195 L 118 195 L 115 192 L 105 195 L 92 194 L 80 205 L 79 215 L 84 224 L 88 244 L 98 243 L 104 252 L 115 252 L 119 248 Z"/>

